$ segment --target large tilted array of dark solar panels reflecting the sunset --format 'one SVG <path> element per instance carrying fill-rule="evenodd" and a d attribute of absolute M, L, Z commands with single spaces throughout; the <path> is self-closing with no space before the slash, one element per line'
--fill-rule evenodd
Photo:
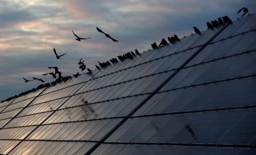
<path fill-rule="evenodd" d="M 255 154 L 256 15 L 0 104 L 2 154 Z"/>

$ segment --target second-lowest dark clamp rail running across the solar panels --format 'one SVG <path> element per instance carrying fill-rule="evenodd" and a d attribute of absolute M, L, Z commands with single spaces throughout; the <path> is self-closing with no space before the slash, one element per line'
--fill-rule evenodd
<path fill-rule="evenodd" d="M 44 125 L 54 125 L 54 124 L 63 124 L 63 123 L 77 123 L 77 122 L 90 122 L 90 121 L 99 121 L 105 119 L 122 119 L 122 118 L 142 118 L 142 117 L 156 117 L 156 116 L 173 116 L 173 115 L 180 115 L 180 114 L 197 114 L 197 113 L 206 113 L 206 112 L 222 112 L 222 111 L 233 111 L 233 110 L 247 110 L 247 109 L 254 109 L 256 105 L 246 105 L 246 106 L 239 106 L 239 107 L 224 107 L 224 108 L 214 108 L 214 109 L 201 109 L 201 110 L 191 110 L 191 111 L 178 111 L 178 112 L 165 112 L 165 113 L 154 113 L 154 114 L 146 114 L 146 115 L 137 115 L 137 116 L 117 116 L 117 117 L 104 117 L 104 118 L 95 118 L 95 119 L 87 119 L 87 120 L 75 120 L 75 121 L 64 121 L 64 122 L 55 122 L 55 123 L 44 123 L 44 124 L 33 124 L 33 125 L 23 125 L 23 126 L 13 126 L 13 127 L 5 127 L 4 129 L 10 128 L 19 128 L 19 127 L 30 127 L 30 126 L 44 126 Z M 55 110 L 58 111 L 58 110 Z M 22 116 L 23 117 L 23 116 Z M 0 139 L 1 140 L 1 139 Z"/>

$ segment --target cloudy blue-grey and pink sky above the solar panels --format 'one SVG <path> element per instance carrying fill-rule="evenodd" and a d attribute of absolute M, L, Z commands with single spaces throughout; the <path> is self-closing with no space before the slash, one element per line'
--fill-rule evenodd
<path fill-rule="evenodd" d="M 85 60 L 94 70 L 104 62 L 128 51 L 140 52 L 177 34 L 180 38 L 194 33 L 193 26 L 205 30 L 205 22 L 236 13 L 247 7 L 256 12 L 255 0 L 0 0 L 0 100 L 38 86 L 22 77 L 52 82 L 49 66 L 58 66 L 63 75 L 79 70 Z M 96 27 L 119 42 L 106 39 Z M 80 37 L 91 37 L 78 42 Z M 57 60 L 58 54 L 68 53 Z"/>

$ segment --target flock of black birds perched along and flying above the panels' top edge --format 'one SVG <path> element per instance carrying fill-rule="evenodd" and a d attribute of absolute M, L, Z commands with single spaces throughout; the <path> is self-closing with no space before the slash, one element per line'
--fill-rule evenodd
<path fill-rule="evenodd" d="M 248 9 L 245 8 L 245 7 L 243 7 L 242 9 L 240 9 L 240 10 L 237 12 L 237 14 L 239 14 L 239 13 L 242 12 L 242 11 L 243 11 L 243 15 L 242 15 L 241 17 L 243 17 L 243 16 L 248 12 Z M 206 25 L 207 25 L 207 28 L 208 28 L 208 29 L 214 29 L 214 28 L 216 28 L 216 27 L 219 27 L 220 25 L 223 25 L 223 24 L 225 24 L 225 23 L 231 23 L 231 22 L 232 22 L 232 20 L 231 20 L 228 16 L 224 16 L 224 17 L 222 17 L 222 18 L 218 18 L 218 20 L 212 20 L 211 22 L 206 22 Z M 201 35 L 201 31 L 200 31 L 197 27 L 193 27 L 193 28 L 194 28 L 195 33 Z M 102 30 L 100 30 L 98 27 L 96 27 L 96 29 L 97 29 L 97 31 L 98 31 L 99 33 L 104 34 L 106 38 L 110 38 L 112 41 L 118 42 L 118 40 L 112 38 L 109 34 L 104 33 L 104 32 L 103 32 Z M 75 39 L 76 39 L 77 41 L 86 40 L 86 39 L 90 39 L 90 38 L 91 38 L 91 37 L 89 37 L 89 38 L 80 38 L 79 36 L 77 36 L 77 35 L 74 33 L 73 30 L 72 30 L 72 32 L 73 32 L 73 34 L 75 35 L 75 37 L 76 37 Z M 179 41 L 179 40 L 180 40 L 177 35 L 174 35 L 174 36 L 172 36 L 172 37 L 168 37 L 167 39 L 168 39 L 168 41 L 169 41 L 170 43 L 172 43 L 172 44 L 174 44 L 176 41 Z M 161 46 L 163 46 L 163 45 L 168 45 L 167 41 L 166 41 L 164 38 L 161 40 L 161 42 L 159 43 L 159 45 L 157 45 L 156 42 L 154 42 L 153 44 L 151 44 L 151 46 L 152 46 L 153 49 L 159 48 L 159 47 L 161 47 Z M 54 54 L 55 54 L 55 56 L 56 56 L 56 59 L 61 59 L 60 57 L 65 56 L 65 55 L 67 54 L 67 53 L 65 53 L 65 54 L 58 55 L 57 52 L 56 52 L 55 47 L 53 48 L 53 52 L 54 52 Z M 134 53 L 133 51 L 130 51 L 129 53 L 126 53 L 126 54 L 124 54 L 124 55 L 117 56 L 117 58 L 119 59 L 119 61 L 124 61 L 125 59 L 132 59 L 133 57 L 136 57 L 136 56 L 140 56 L 140 53 L 139 53 L 139 51 L 138 51 L 137 49 L 135 49 L 135 53 Z M 119 61 L 118 61 L 116 58 L 110 59 L 110 62 L 113 63 L 113 64 L 118 63 Z M 109 61 L 106 61 L 106 62 L 101 63 L 101 62 L 98 61 L 98 65 L 99 65 L 99 66 L 98 66 L 98 65 L 95 65 L 95 67 L 96 67 L 98 70 L 100 70 L 101 68 L 104 68 L 104 67 L 106 67 L 106 66 L 111 65 L 110 62 L 109 62 Z M 92 73 L 92 70 L 89 69 L 88 67 L 86 67 L 86 65 L 84 64 L 84 60 L 82 61 L 82 59 L 80 59 L 80 61 L 78 62 L 78 65 L 79 65 L 79 69 L 81 69 L 81 71 L 87 69 L 87 71 L 88 71 L 89 74 Z M 30 93 L 30 92 L 36 91 L 36 90 L 41 89 L 41 88 L 45 88 L 45 87 L 48 87 L 48 86 L 54 86 L 55 84 L 60 83 L 60 82 L 66 82 L 67 80 L 70 80 L 70 79 L 72 79 L 73 77 L 76 78 L 76 77 L 78 77 L 79 75 L 81 75 L 79 72 L 77 72 L 76 74 L 73 74 L 73 77 L 72 77 L 72 76 L 64 76 L 64 77 L 63 77 L 63 76 L 61 76 L 61 73 L 62 73 L 62 72 L 59 71 L 59 68 L 58 68 L 58 67 L 53 66 L 53 67 L 48 67 L 48 68 L 49 68 L 49 69 L 54 69 L 54 72 L 49 72 L 49 73 L 45 73 L 45 74 L 42 74 L 42 75 L 51 75 L 54 79 L 56 79 L 55 81 L 53 81 L 53 82 L 51 82 L 51 83 L 41 84 L 41 85 L 37 86 L 36 88 L 33 88 L 33 89 L 31 89 L 31 90 L 22 92 L 22 93 L 20 93 L 20 94 L 18 94 L 18 95 L 9 97 L 9 98 L 7 98 L 6 100 L 2 100 L 1 102 L 8 101 L 8 100 L 13 99 L 13 98 L 16 98 L 16 97 L 18 97 L 18 96 L 22 96 L 22 95 L 28 94 L 28 93 Z M 44 80 L 38 79 L 38 78 L 36 78 L 36 77 L 32 77 L 33 80 L 27 80 L 27 79 L 25 79 L 24 77 L 23 77 L 23 79 L 24 79 L 25 83 L 28 83 L 28 82 L 31 82 L 31 81 L 34 81 L 34 80 L 37 80 L 37 81 L 39 81 L 39 82 L 41 82 L 41 83 L 45 83 Z"/>

